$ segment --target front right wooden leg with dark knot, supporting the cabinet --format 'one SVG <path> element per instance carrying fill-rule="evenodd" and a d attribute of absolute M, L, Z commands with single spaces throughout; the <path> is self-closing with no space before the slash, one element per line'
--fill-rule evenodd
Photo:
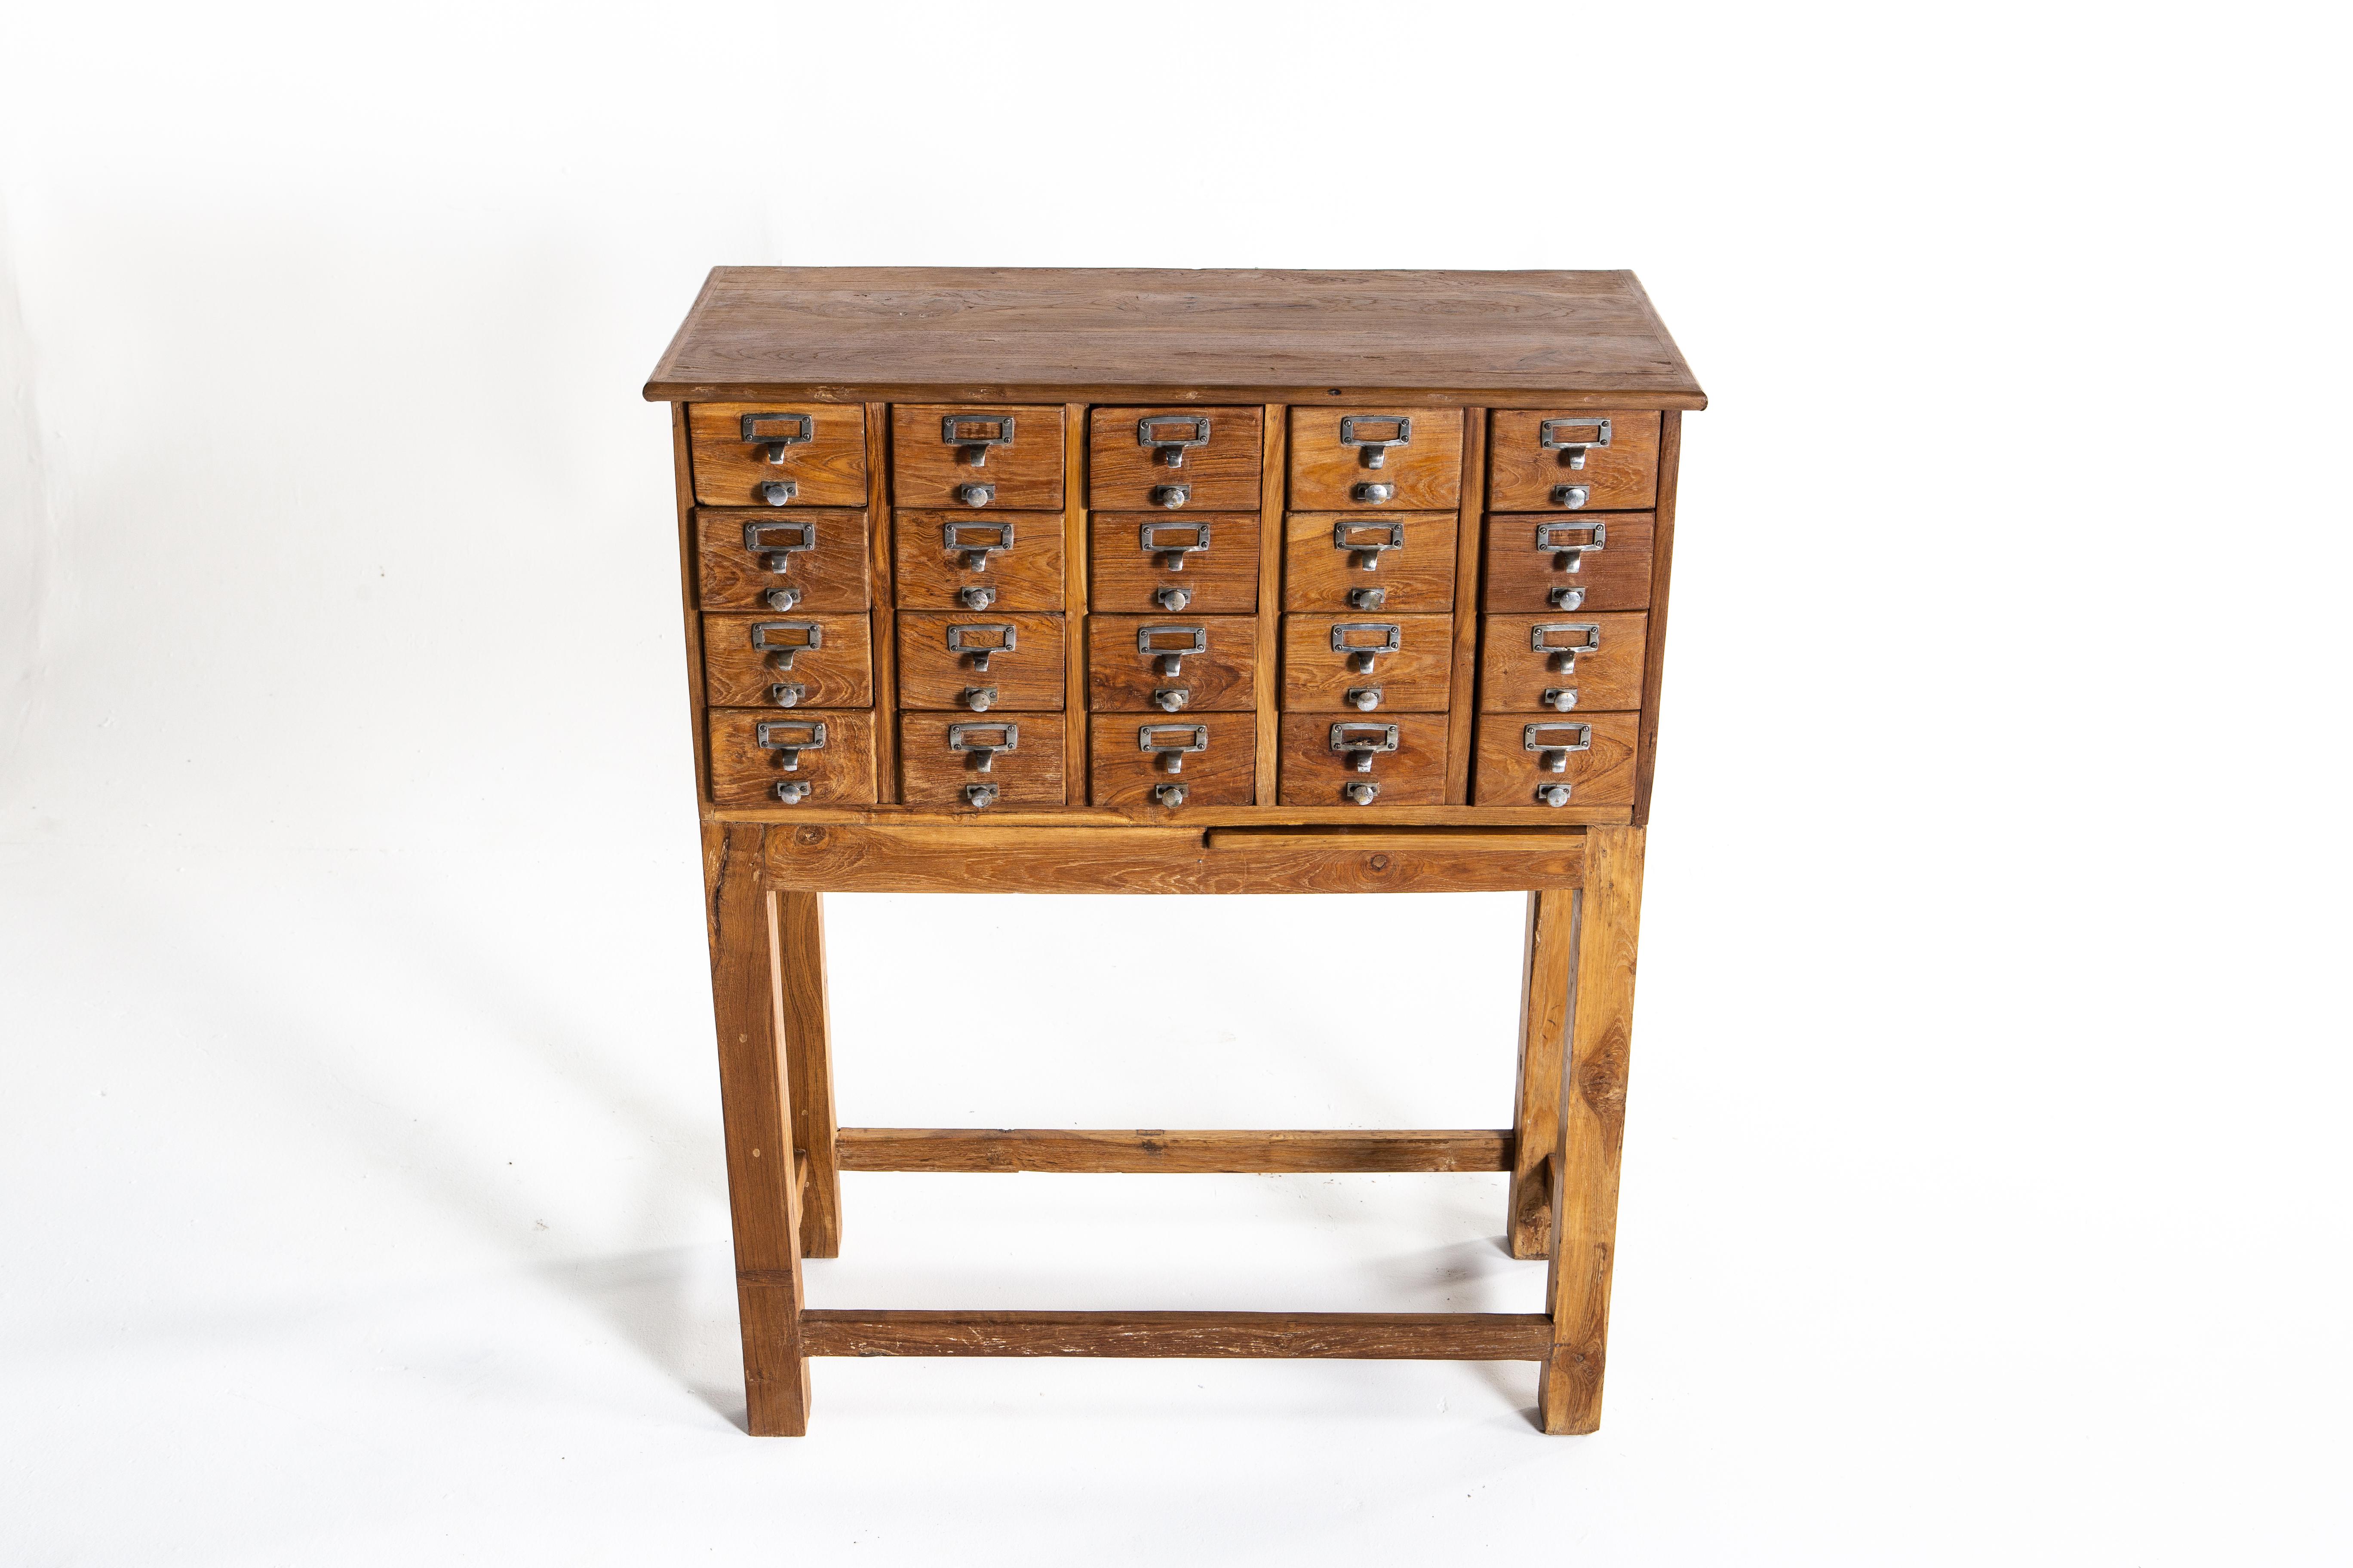
<path fill-rule="evenodd" d="M 1595 827 L 1577 912 L 1577 1001 L 1553 1161 L 1553 1352 L 1537 1385 L 1546 1432 L 1602 1425 L 1609 1279 L 1617 1255 L 1633 971 L 1642 924 L 1642 830 Z"/>

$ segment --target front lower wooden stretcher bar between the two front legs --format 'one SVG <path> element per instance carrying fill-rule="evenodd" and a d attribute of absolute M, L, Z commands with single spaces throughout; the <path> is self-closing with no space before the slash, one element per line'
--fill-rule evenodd
<path fill-rule="evenodd" d="M 805 1312 L 812 1356 L 1541 1361 L 1541 1312 Z"/>

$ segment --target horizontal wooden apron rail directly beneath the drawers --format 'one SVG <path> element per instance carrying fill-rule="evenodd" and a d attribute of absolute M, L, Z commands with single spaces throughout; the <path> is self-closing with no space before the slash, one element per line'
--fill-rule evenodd
<path fill-rule="evenodd" d="M 998 766 L 1007 766 L 1000 759 Z M 1379 809 L 1367 811 L 1367 816 Z M 1184 811 L 1167 818 L 1186 820 Z M 769 882 L 861 893 L 1492 893 L 1577 886 L 1584 835 L 802 823 L 769 839 Z"/>

